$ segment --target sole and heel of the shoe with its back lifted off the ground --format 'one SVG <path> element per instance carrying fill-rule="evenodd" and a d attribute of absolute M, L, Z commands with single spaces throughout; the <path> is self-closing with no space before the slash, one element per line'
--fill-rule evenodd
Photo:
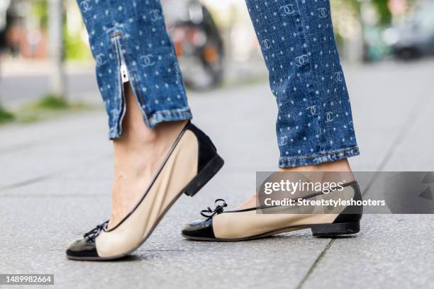
<path fill-rule="evenodd" d="M 178 195 L 172 200 L 171 203 L 165 208 L 165 210 L 162 212 L 162 215 L 157 219 L 157 222 L 152 226 L 150 229 L 150 232 L 146 235 L 145 238 L 143 238 L 142 242 L 138 244 L 135 248 L 131 249 L 130 251 L 126 252 L 125 254 L 121 254 L 118 256 L 111 256 L 111 257 L 77 257 L 77 256 L 67 256 L 67 259 L 70 260 L 77 260 L 77 261 L 112 261 L 116 259 L 121 259 L 128 254 L 133 253 L 133 251 L 137 250 L 142 244 L 150 237 L 152 232 L 154 232 L 154 229 L 157 227 L 157 225 L 160 223 L 162 218 L 166 215 L 167 211 L 172 208 L 172 205 L 178 200 L 178 198 L 185 193 L 187 196 L 193 197 L 196 195 L 196 193 L 210 181 L 213 176 L 215 176 L 218 171 L 222 168 L 223 164 L 225 162 L 223 159 L 216 154 L 209 162 L 204 166 L 204 169 L 199 171 L 199 173 L 185 186 L 181 192 L 178 193 Z"/>

